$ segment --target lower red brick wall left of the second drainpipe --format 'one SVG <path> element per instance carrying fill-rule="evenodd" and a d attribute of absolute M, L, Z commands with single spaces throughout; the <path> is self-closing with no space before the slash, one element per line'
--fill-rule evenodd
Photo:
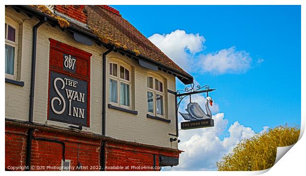
<path fill-rule="evenodd" d="M 15 133 L 15 134 L 14 134 Z M 5 169 L 12 166 L 25 166 L 27 136 L 26 130 L 5 126 Z M 86 168 L 82 171 L 99 171 L 100 167 L 100 141 L 81 139 L 65 134 L 35 131 L 36 138 L 47 138 L 65 142 L 65 159 L 71 160 L 71 166 L 76 169 L 77 154 L 79 162 Z M 31 166 L 34 171 L 54 171 L 47 166 L 60 167 L 62 162 L 62 144 L 51 141 L 32 140 Z M 41 167 L 41 168 L 38 168 Z M 20 169 L 18 169 L 20 170 Z"/>

